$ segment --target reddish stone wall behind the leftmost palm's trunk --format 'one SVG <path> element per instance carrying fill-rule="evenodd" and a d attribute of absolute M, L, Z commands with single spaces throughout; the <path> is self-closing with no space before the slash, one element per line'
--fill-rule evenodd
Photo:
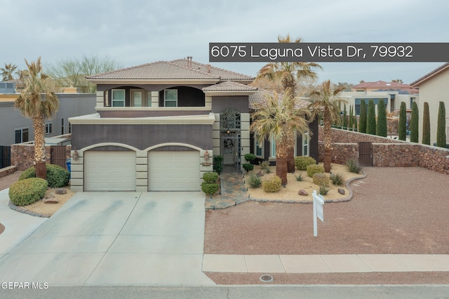
<path fill-rule="evenodd" d="M 67 145 L 66 156 L 70 157 L 72 145 Z M 51 145 L 45 146 L 46 163 L 51 161 Z M 16 170 L 25 171 L 27 168 L 34 166 L 34 145 L 27 143 L 19 143 L 11 145 L 11 165 L 17 166 Z"/>

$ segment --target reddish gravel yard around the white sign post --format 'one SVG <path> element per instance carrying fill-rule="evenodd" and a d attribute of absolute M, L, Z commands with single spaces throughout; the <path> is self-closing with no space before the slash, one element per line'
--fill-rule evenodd
<path fill-rule="evenodd" d="M 448 175 L 424 168 L 364 171 L 366 178 L 351 183 L 351 201 L 324 205 L 324 223 L 319 222 L 318 237 L 313 235 L 311 204 L 250 201 L 206 211 L 204 253 L 449 254 Z M 255 274 L 209 276 L 220 284 L 259 283 Z M 283 277 L 277 283 L 290 284 L 449 283 L 448 272 L 277 276 Z"/>

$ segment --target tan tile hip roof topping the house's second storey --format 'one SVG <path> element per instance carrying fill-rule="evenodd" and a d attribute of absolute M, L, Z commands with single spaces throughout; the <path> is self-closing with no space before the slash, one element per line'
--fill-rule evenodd
<path fill-rule="evenodd" d="M 254 80 L 253 77 L 245 74 L 231 72 L 211 65 L 203 65 L 194 61 L 192 61 L 192 67 L 188 67 L 187 62 L 185 59 L 157 61 L 135 67 L 116 69 L 112 72 L 93 74 L 88 76 L 87 79 L 215 79 L 217 81 L 248 81 L 248 83 Z"/>

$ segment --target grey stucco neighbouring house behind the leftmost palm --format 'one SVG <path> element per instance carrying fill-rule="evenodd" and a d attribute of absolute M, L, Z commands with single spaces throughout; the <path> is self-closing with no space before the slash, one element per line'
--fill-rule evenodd
<path fill-rule="evenodd" d="M 11 84 L 11 83 L 10 83 Z M 1 88 L 1 85 L 0 85 Z M 0 145 L 34 140 L 33 124 L 14 109 L 19 94 L 4 93 L 0 89 Z M 90 93 L 57 93 L 60 100 L 58 112 L 53 119 L 46 120 L 46 138 L 71 133 L 69 117 L 95 112 L 95 95 Z"/>

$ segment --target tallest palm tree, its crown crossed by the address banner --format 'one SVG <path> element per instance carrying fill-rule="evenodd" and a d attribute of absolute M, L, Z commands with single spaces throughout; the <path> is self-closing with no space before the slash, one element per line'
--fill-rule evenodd
<path fill-rule="evenodd" d="M 301 38 L 295 40 L 290 38 L 290 35 L 278 36 L 279 43 L 300 43 Z M 322 69 L 321 66 L 314 62 L 270 62 L 264 65 L 257 73 L 257 79 L 269 79 L 281 84 L 283 91 L 290 95 L 290 100 L 294 101 L 296 96 L 297 81 L 305 79 L 316 79 L 315 70 Z M 295 138 L 293 132 L 290 133 L 291 143 L 288 145 L 288 172 L 295 171 Z"/>

